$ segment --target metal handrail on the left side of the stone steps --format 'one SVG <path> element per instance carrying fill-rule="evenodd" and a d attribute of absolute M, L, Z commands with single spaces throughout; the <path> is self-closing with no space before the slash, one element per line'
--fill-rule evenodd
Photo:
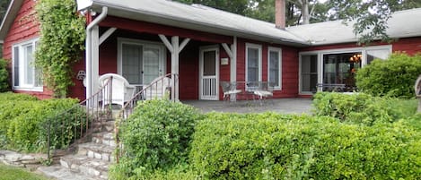
<path fill-rule="evenodd" d="M 57 113 L 55 116 L 51 116 L 47 118 L 47 158 L 51 159 L 50 150 L 51 150 L 51 134 L 56 133 L 57 131 L 63 131 L 63 128 L 68 128 L 69 122 L 61 121 L 57 122 L 57 119 L 59 117 L 65 116 L 66 114 L 69 114 L 71 111 L 80 108 L 85 107 L 85 113 L 84 115 L 78 115 L 75 114 L 75 122 L 71 125 L 72 132 L 74 132 L 74 137 L 72 141 L 64 141 L 65 135 L 67 134 L 61 134 L 62 137 L 55 137 L 58 139 L 63 140 L 64 147 L 66 149 L 70 149 L 72 147 L 72 144 L 77 144 L 78 142 L 84 141 L 86 137 L 92 133 L 92 124 L 94 120 L 100 120 L 100 123 L 102 123 L 103 118 L 110 118 L 112 116 L 112 107 L 111 102 L 107 103 L 108 107 L 101 107 L 100 103 L 103 102 L 103 96 L 109 96 L 109 101 L 111 101 L 112 98 L 112 77 L 109 78 L 108 81 L 106 81 L 100 90 L 98 90 L 96 93 L 94 93 L 91 97 L 88 99 L 84 99 L 79 104 L 76 104 L 73 107 L 70 107 L 66 109 L 65 111 L 62 111 L 60 113 Z M 108 92 L 106 94 L 106 92 Z M 78 123 L 80 121 L 80 124 Z M 79 134 L 78 134 L 79 133 Z"/>

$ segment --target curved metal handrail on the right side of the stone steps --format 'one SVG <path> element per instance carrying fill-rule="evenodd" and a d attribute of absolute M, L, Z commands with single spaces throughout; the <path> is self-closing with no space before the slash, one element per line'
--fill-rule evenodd
<path fill-rule="evenodd" d="M 116 162 L 118 163 L 118 158 L 120 157 L 121 153 L 122 153 L 122 146 L 120 145 L 120 140 L 119 140 L 119 132 L 118 132 L 118 127 L 120 126 L 120 124 L 125 121 L 127 119 L 127 117 L 133 113 L 133 110 L 135 109 L 135 107 L 137 106 L 137 102 L 138 101 L 143 101 L 145 100 L 147 95 L 151 95 L 152 97 L 152 89 L 159 89 L 162 87 L 159 87 L 159 83 L 163 84 L 164 81 L 168 80 L 168 78 L 170 78 L 171 80 L 171 85 L 170 88 L 171 90 L 174 88 L 174 85 L 177 83 L 179 75 L 176 73 L 167 73 L 157 79 L 155 79 L 154 81 L 152 81 L 149 85 L 145 86 L 145 88 L 143 88 L 142 90 L 139 90 L 138 92 L 136 92 L 135 96 L 128 100 L 127 103 L 121 108 L 120 112 L 118 113 L 118 121 L 116 121 L 115 124 L 115 133 L 116 133 L 116 144 L 118 144 L 118 149 L 119 149 L 119 153 L 116 153 Z M 170 90 L 170 91 L 171 91 Z M 150 94 L 148 94 L 150 93 Z M 171 97 L 171 96 L 170 96 Z M 163 97 L 165 98 L 165 97 Z M 171 100 L 175 100 L 175 99 L 171 99 Z"/>

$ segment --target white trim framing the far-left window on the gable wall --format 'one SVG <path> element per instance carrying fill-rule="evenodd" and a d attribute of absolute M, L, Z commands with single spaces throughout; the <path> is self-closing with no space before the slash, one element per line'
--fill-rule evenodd
<path fill-rule="evenodd" d="M 37 49 L 37 42 L 39 41 L 39 38 L 35 38 L 35 39 L 28 39 L 28 40 L 25 40 L 25 41 L 21 41 L 21 42 L 19 42 L 19 43 L 17 43 L 17 44 L 14 44 L 13 46 L 12 46 L 12 90 L 25 90 L 25 91 L 37 91 L 37 92 L 42 92 L 42 91 L 44 91 L 44 87 L 43 87 L 43 85 L 41 85 L 41 86 L 39 86 L 39 87 L 35 87 L 34 86 L 34 84 L 35 84 L 35 78 L 36 78 L 36 76 L 34 75 L 32 78 L 33 78 L 33 80 L 32 80 L 32 84 L 23 84 L 23 79 L 24 79 L 24 76 L 25 76 L 25 74 L 24 74 L 24 69 L 22 69 L 21 67 L 22 67 L 22 62 L 23 62 L 23 59 L 22 59 L 22 57 L 24 56 L 23 55 L 23 48 L 22 47 L 24 47 L 24 46 L 28 46 L 28 45 L 31 45 L 32 46 L 32 55 L 33 55 L 33 63 L 35 63 L 35 53 L 36 53 L 36 49 Z M 15 63 L 15 59 L 14 59 L 14 57 L 15 57 L 15 52 L 14 52 L 14 48 L 15 47 L 18 47 L 19 48 L 19 81 L 20 81 L 20 84 L 19 84 L 19 86 L 14 86 L 14 63 Z M 34 73 L 35 73 L 35 67 L 33 68 L 34 69 Z"/>

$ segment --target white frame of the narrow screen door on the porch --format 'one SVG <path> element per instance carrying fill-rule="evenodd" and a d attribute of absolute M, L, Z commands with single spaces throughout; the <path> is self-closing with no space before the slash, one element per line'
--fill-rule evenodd
<path fill-rule="evenodd" d="M 204 56 L 203 54 L 207 51 L 215 51 L 215 97 L 214 98 L 206 98 L 203 97 L 203 60 Z M 212 45 L 212 46 L 206 46 L 206 47 L 199 47 L 199 99 L 202 100 L 219 100 L 219 46 L 218 45 Z"/>

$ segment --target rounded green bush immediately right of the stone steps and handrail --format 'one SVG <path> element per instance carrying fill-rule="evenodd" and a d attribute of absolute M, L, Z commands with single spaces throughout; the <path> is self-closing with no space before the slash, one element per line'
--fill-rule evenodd
<path fill-rule="evenodd" d="M 124 154 L 111 168 L 113 179 L 145 178 L 156 169 L 186 162 L 197 109 L 168 100 L 148 100 L 121 124 Z"/>

